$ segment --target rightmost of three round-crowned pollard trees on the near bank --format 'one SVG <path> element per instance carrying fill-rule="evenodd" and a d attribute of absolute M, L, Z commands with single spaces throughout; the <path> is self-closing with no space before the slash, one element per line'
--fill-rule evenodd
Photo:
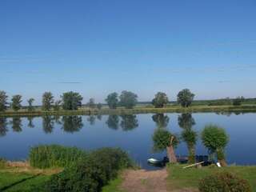
<path fill-rule="evenodd" d="M 210 154 L 217 154 L 217 159 L 222 166 L 226 166 L 225 147 L 229 142 L 226 131 L 216 125 L 206 125 L 202 130 L 202 143 L 210 151 Z"/>

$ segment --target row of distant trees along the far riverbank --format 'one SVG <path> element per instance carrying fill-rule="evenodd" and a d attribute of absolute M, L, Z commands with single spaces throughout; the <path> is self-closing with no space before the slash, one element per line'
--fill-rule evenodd
<path fill-rule="evenodd" d="M 181 90 L 178 92 L 177 102 L 182 107 L 189 107 L 194 101 L 194 96 L 195 94 L 188 89 Z M 66 92 L 62 94 L 60 98 L 61 99 L 59 100 L 54 100 L 53 94 L 50 91 L 46 91 L 44 94 L 42 94 L 42 110 L 60 110 L 61 108 L 63 110 L 78 110 L 78 108 L 82 106 L 82 95 L 77 92 Z M 0 111 L 5 111 L 8 107 L 14 111 L 22 109 L 22 95 L 13 95 L 10 99 L 10 103 L 7 102 L 7 99 L 8 96 L 6 95 L 6 92 L 0 90 Z M 132 109 L 138 103 L 138 95 L 131 91 L 123 90 L 120 95 L 118 95 L 116 92 L 108 94 L 105 101 L 110 109 L 116 109 L 118 106 L 125 107 L 126 109 Z M 244 101 L 245 98 L 243 97 L 238 97 L 235 99 L 226 98 L 211 101 L 208 105 L 214 106 L 233 104 L 234 106 L 240 106 Z M 26 109 L 28 111 L 33 111 L 34 98 L 29 98 L 27 103 L 28 106 L 26 106 Z M 151 103 L 155 108 L 162 108 L 169 103 L 169 98 L 167 97 L 166 93 L 158 92 L 154 95 Z M 94 98 L 90 98 L 89 102 L 86 103 L 86 106 L 90 107 L 91 109 L 102 109 L 102 103 L 95 103 Z"/>

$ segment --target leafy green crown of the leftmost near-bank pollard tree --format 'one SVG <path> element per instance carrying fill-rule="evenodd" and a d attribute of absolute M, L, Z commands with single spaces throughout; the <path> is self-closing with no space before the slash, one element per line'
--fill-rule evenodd
<path fill-rule="evenodd" d="M 174 134 L 171 134 L 168 130 L 156 129 L 152 137 L 154 142 L 153 150 L 156 152 L 166 150 L 166 147 L 170 146 L 170 138 L 172 136 L 174 136 L 172 146 L 175 147 L 178 145 L 178 138 Z"/>

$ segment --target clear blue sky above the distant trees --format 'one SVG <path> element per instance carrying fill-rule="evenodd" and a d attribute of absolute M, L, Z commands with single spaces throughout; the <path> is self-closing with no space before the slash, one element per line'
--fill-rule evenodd
<path fill-rule="evenodd" d="M 1 0 L 0 90 L 256 98 L 254 0 Z M 25 103 L 25 102 L 24 102 Z"/>

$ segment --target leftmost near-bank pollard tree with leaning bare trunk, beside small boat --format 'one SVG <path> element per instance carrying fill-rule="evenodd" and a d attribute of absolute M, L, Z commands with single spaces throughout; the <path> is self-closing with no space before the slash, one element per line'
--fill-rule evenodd
<path fill-rule="evenodd" d="M 154 142 L 154 151 L 159 152 L 166 150 L 170 162 L 177 162 L 174 148 L 178 145 L 178 138 L 174 134 L 171 134 L 170 131 L 166 129 L 156 129 L 152 139 Z"/>

